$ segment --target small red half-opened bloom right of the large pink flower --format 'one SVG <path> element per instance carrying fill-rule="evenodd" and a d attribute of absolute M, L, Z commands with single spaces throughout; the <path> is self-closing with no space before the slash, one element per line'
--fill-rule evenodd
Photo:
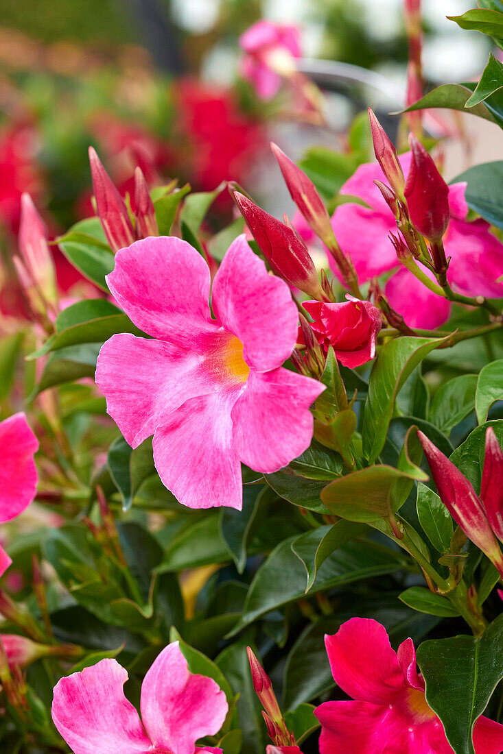
<path fill-rule="evenodd" d="M 381 314 L 369 301 L 350 300 L 342 304 L 306 301 L 313 317 L 313 333 L 325 351 L 332 345 L 343 366 L 361 366 L 375 357 L 375 342 L 381 329 Z"/>

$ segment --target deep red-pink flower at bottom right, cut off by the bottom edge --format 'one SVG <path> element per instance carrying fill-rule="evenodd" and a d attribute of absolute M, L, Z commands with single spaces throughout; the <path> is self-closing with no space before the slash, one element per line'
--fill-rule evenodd
<path fill-rule="evenodd" d="M 412 639 L 393 651 L 384 626 L 351 618 L 325 637 L 335 682 L 354 701 L 320 704 L 320 754 L 453 754 L 443 726 L 424 698 Z M 480 717 L 476 754 L 499 754 L 503 725 Z"/>

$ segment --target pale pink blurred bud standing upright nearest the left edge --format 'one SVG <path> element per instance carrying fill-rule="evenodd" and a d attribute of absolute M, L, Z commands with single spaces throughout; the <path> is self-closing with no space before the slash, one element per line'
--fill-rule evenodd
<path fill-rule="evenodd" d="M 21 196 L 19 250 L 23 265 L 46 305 L 57 305 L 56 274 L 47 242 L 47 228 L 29 194 Z"/>

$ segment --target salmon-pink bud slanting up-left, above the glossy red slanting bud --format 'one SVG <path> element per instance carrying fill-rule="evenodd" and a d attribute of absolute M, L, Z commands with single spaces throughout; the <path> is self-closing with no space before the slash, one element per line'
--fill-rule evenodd
<path fill-rule="evenodd" d="M 325 204 L 323 204 L 322 198 L 316 191 L 314 183 L 307 177 L 307 175 L 297 167 L 295 162 L 292 162 L 290 158 L 285 155 L 279 149 L 279 146 L 271 143 L 270 148 L 273 150 L 273 154 L 276 161 L 279 164 L 279 168 L 282 172 L 283 178 L 287 188 L 289 189 L 292 200 L 297 204 L 301 215 L 307 222 L 307 225 L 316 233 L 316 235 L 322 239 L 332 238 L 334 231 L 330 222 L 329 213 L 327 212 Z"/>

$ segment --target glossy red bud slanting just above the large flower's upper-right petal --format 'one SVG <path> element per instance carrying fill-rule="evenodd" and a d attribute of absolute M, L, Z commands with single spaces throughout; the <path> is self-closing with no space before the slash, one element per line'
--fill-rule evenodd
<path fill-rule="evenodd" d="M 271 267 L 287 283 L 304 291 L 307 296 L 322 301 L 323 293 L 313 260 L 292 228 L 261 210 L 239 192 L 234 192 L 234 198 Z"/>

